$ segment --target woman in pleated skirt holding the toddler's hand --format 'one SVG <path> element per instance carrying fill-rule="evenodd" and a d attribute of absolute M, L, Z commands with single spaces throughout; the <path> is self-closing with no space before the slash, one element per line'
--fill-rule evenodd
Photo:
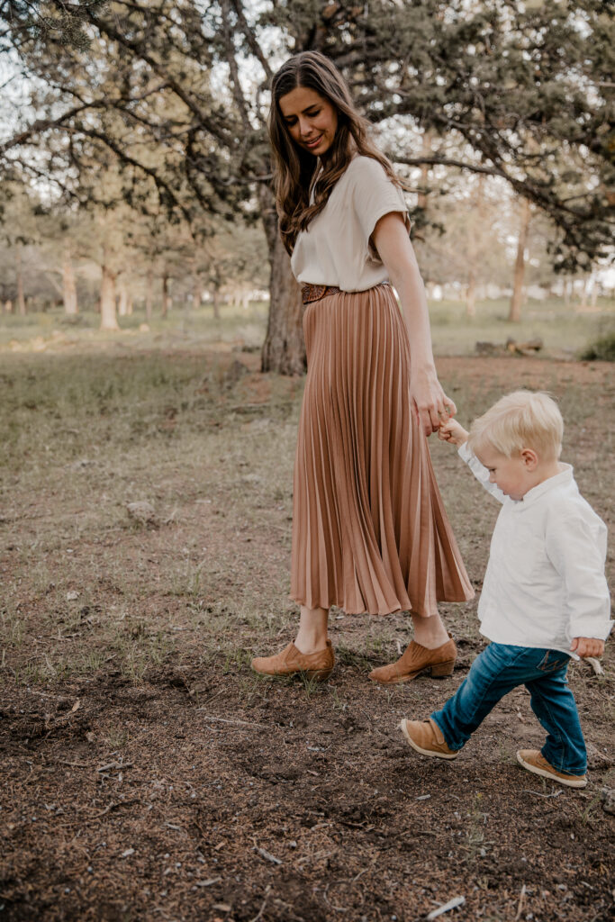
<path fill-rule="evenodd" d="M 370 679 L 408 681 L 426 668 L 451 675 L 455 644 L 436 603 L 473 592 L 426 436 L 456 408 L 436 375 L 399 182 L 323 54 L 296 54 L 281 67 L 268 127 L 280 232 L 307 305 L 290 586 L 301 619 L 294 643 L 252 666 L 328 678 L 336 605 L 410 612 L 415 639 Z"/>

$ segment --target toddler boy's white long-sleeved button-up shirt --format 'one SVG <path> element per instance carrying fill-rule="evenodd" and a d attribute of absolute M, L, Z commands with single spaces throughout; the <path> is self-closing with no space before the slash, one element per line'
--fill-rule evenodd
<path fill-rule="evenodd" d="M 546 647 L 569 656 L 574 637 L 606 640 L 607 526 L 581 496 L 570 465 L 512 500 L 464 443 L 459 455 L 503 503 L 479 598 L 480 632 L 496 644 Z"/>

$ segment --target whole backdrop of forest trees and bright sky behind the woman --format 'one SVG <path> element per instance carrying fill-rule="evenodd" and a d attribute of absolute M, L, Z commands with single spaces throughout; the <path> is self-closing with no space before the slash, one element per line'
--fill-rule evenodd
<path fill-rule="evenodd" d="M 265 124 L 315 48 L 408 184 L 441 348 L 480 338 L 477 305 L 578 347 L 612 316 L 614 47 L 591 0 L 0 0 L 3 340 L 171 316 L 301 372 Z"/>

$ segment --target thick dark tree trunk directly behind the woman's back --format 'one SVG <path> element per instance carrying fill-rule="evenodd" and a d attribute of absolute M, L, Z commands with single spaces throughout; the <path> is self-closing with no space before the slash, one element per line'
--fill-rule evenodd
<path fill-rule="evenodd" d="M 263 186 L 260 198 L 271 263 L 271 300 L 261 371 L 302 374 L 307 365 L 302 329 L 302 292 L 290 270 L 289 254 L 279 238 L 273 195 Z"/>

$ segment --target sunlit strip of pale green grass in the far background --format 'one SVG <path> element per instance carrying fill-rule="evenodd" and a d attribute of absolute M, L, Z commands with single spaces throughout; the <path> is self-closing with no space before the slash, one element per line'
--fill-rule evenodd
<path fill-rule="evenodd" d="M 437 355 L 472 355 L 476 343 L 502 345 L 539 337 L 547 354 L 574 356 L 587 342 L 609 333 L 615 324 L 615 300 L 602 298 L 596 311 L 579 311 L 562 299 L 527 301 L 519 324 L 509 323 L 508 301 L 479 301 L 476 315 L 466 316 L 463 301 L 432 301 L 430 315 Z M 0 350 L 66 351 L 89 349 L 203 349 L 212 344 L 258 350 L 266 335 L 268 305 L 253 302 L 247 311 L 232 304 L 220 309 L 220 319 L 210 306 L 193 311 L 174 307 L 166 318 L 156 314 L 147 321 L 143 311 L 118 318 L 120 331 L 101 333 L 99 316 L 86 312 L 67 318 L 61 308 L 25 317 L 0 315 Z"/>

